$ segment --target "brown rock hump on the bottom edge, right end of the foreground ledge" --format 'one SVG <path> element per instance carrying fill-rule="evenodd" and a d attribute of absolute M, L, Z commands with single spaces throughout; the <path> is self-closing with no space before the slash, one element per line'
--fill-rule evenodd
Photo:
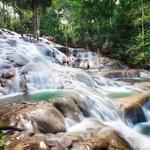
<path fill-rule="evenodd" d="M 119 133 L 108 130 L 73 143 L 72 150 L 133 150 Z"/>

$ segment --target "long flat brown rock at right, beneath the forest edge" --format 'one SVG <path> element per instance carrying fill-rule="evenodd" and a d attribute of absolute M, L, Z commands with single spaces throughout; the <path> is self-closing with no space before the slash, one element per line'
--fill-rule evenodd
<path fill-rule="evenodd" d="M 109 70 L 102 73 L 107 78 L 133 78 L 139 77 L 139 72 L 134 69 L 129 70 Z"/>

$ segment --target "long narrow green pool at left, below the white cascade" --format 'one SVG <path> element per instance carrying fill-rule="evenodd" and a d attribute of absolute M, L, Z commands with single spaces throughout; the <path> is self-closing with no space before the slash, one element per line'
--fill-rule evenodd
<path fill-rule="evenodd" d="M 63 90 L 43 90 L 28 94 L 18 94 L 9 97 L 0 98 L 0 105 L 6 105 L 14 102 L 38 102 L 49 101 L 52 99 L 62 98 L 64 96 Z"/>

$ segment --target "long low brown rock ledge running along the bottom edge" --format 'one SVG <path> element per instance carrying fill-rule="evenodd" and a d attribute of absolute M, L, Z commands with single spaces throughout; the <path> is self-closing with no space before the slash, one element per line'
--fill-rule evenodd
<path fill-rule="evenodd" d="M 113 130 L 93 132 L 84 137 L 75 133 L 35 134 L 32 137 L 19 134 L 10 137 L 7 143 L 6 150 L 133 150 L 129 143 Z"/>

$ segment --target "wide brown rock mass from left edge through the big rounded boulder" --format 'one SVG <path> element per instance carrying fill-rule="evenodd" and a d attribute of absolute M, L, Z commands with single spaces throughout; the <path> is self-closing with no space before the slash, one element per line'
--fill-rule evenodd
<path fill-rule="evenodd" d="M 65 132 L 63 115 L 50 104 L 17 104 L 14 109 L 9 109 L 9 112 L 2 109 L 0 114 L 0 120 L 6 125 L 17 127 L 28 133 Z M 6 115 L 10 115 L 9 120 L 5 118 Z"/>

